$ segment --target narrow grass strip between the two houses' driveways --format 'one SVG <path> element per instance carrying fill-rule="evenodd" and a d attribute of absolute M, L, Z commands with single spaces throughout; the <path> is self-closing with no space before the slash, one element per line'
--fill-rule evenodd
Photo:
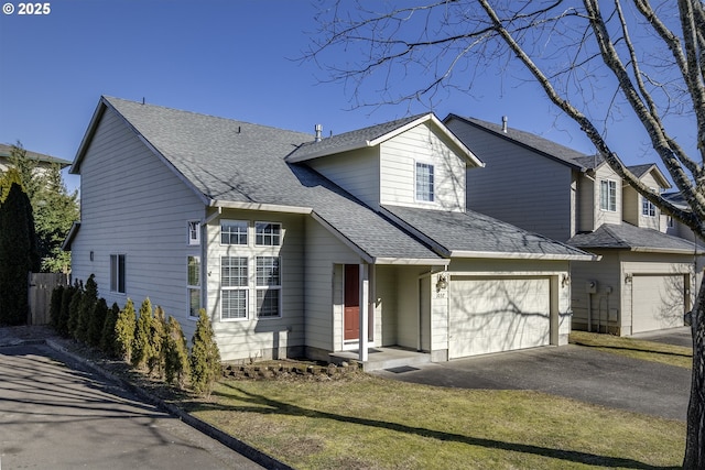
<path fill-rule="evenodd" d="M 571 332 L 570 341 L 574 345 L 586 346 L 642 361 L 660 362 L 686 369 L 693 367 L 693 348 L 586 331 Z"/>

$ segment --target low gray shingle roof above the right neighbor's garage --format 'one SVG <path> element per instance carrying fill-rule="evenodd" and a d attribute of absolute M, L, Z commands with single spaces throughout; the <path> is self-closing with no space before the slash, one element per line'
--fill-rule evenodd
<path fill-rule="evenodd" d="M 576 234 L 567 243 L 584 249 L 603 248 L 674 253 L 693 253 L 696 248 L 693 242 L 682 238 L 627 222 L 621 225 L 604 223 L 594 232 Z M 698 251 L 701 250 L 698 248 Z"/>

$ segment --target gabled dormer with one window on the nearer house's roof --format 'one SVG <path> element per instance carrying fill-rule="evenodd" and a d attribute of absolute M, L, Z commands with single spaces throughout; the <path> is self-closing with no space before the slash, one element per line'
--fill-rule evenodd
<path fill-rule="evenodd" d="M 305 163 L 372 208 L 465 211 L 466 171 L 484 166 L 433 113 L 327 139 L 288 156 Z"/>

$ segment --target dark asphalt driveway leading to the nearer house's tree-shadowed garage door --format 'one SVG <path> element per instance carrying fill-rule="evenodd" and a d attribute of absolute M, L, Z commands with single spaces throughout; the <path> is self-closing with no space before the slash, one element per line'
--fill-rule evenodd
<path fill-rule="evenodd" d="M 398 368 L 376 374 L 459 389 L 534 390 L 680 420 L 685 420 L 691 387 L 690 369 L 575 345 Z"/>

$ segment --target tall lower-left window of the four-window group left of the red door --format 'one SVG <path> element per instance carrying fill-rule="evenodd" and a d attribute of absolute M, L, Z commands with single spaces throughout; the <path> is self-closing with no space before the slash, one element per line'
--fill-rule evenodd
<path fill-rule="evenodd" d="M 248 313 L 248 258 L 220 258 L 220 319 L 247 318 Z"/>

